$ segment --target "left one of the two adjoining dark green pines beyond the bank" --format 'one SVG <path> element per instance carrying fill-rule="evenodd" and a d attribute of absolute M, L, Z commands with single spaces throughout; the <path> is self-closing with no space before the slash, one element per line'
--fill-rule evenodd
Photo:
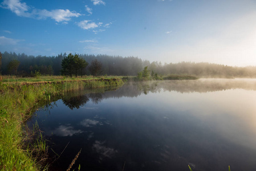
<path fill-rule="evenodd" d="M 75 60 L 74 55 L 71 53 L 68 54 L 67 57 L 65 57 L 62 60 L 62 70 L 60 71 L 62 75 L 69 75 L 72 78 L 72 74 L 75 71 Z"/>

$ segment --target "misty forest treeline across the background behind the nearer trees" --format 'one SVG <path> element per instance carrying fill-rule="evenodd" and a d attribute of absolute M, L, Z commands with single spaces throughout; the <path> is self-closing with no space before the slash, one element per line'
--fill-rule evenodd
<path fill-rule="evenodd" d="M 84 59 L 88 66 L 83 69 L 83 75 L 93 75 L 90 64 L 97 60 L 101 65 L 101 75 L 136 76 L 148 66 L 149 71 L 161 75 L 193 75 L 200 78 L 256 78 L 256 66 L 233 67 L 212 63 L 164 63 L 129 56 L 88 55 L 76 54 Z M 36 72 L 42 75 L 61 75 L 62 60 L 67 54 L 57 56 L 32 56 L 16 54 L 15 52 L 3 52 L 0 58 L 0 73 L 2 75 L 14 75 L 27 77 Z M 15 67 L 16 66 L 16 67 Z"/>

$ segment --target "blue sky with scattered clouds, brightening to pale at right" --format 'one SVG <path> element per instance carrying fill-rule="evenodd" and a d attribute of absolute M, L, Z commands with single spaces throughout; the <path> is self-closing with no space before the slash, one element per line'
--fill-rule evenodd
<path fill-rule="evenodd" d="M 256 66 L 255 0 L 1 0 L 0 51 Z"/>

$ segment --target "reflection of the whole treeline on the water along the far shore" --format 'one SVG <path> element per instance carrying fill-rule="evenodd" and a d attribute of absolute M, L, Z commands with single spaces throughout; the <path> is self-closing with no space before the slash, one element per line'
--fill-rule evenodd
<path fill-rule="evenodd" d="M 176 91 L 179 93 L 206 93 L 225 91 L 227 89 L 256 90 L 255 79 L 199 79 L 199 80 L 166 80 L 151 82 L 131 82 L 119 89 L 94 89 L 86 91 L 68 92 L 62 98 L 63 103 L 69 108 L 79 108 L 89 99 L 92 103 L 99 104 L 103 99 L 111 97 L 137 97 L 141 94 L 157 93 L 160 91 Z M 109 91 L 112 90 L 112 91 Z M 93 91 L 93 93 L 92 93 Z M 82 94 L 82 95 L 81 95 Z"/>

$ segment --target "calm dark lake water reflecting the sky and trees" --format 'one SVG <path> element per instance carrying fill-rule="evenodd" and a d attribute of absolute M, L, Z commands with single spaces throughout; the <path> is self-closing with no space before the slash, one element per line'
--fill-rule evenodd
<path fill-rule="evenodd" d="M 255 79 L 131 83 L 72 92 L 29 124 L 50 140 L 51 161 L 63 152 L 51 170 L 81 148 L 71 170 L 256 170 L 255 90 Z"/>

